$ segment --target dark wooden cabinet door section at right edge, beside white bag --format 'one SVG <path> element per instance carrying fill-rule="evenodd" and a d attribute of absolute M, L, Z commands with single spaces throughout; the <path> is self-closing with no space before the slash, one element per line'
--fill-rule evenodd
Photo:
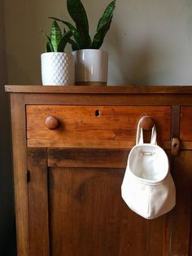
<path fill-rule="evenodd" d="M 177 201 L 172 211 L 171 255 L 189 256 L 192 255 L 192 152 L 182 151 L 172 164 Z"/>

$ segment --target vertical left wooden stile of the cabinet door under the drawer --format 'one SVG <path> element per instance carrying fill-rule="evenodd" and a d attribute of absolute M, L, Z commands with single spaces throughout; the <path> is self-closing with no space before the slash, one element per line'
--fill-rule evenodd
<path fill-rule="evenodd" d="M 49 212 L 46 148 L 28 148 L 30 256 L 49 256 Z"/>

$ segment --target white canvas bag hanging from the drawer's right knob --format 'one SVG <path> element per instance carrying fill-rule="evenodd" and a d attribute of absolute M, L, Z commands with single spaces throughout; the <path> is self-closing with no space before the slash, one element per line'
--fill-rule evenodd
<path fill-rule="evenodd" d="M 129 152 L 121 195 L 131 210 L 148 219 L 167 213 L 176 204 L 168 157 L 156 144 L 155 126 L 151 143 L 143 143 L 142 127 L 138 123 L 136 145 Z"/>

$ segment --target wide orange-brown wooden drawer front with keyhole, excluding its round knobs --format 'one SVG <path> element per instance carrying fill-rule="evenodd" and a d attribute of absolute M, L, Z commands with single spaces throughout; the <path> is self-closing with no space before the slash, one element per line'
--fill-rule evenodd
<path fill-rule="evenodd" d="M 62 106 L 28 105 L 28 147 L 130 148 L 135 143 L 137 122 L 151 116 L 159 141 L 169 141 L 171 107 L 165 106 Z M 46 117 L 59 121 L 46 128 Z"/>

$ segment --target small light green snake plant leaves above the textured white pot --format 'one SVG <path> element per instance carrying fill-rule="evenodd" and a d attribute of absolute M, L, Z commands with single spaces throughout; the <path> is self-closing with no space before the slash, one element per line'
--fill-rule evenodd
<path fill-rule="evenodd" d="M 53 23 L 50 29 L 50 36 L 46 35 L 46 38 L 48 39 L 48 41 L 46 42 L 46 51 L 47 52 L 63 52 L 65 49 L 65 46 L 68 43 L 69 38 L 71 37 L 72 37 L 71 30 L 68 30 L 67 32 L 64 31 L 62 33 L 57 21 L 53 20 Z"/>

